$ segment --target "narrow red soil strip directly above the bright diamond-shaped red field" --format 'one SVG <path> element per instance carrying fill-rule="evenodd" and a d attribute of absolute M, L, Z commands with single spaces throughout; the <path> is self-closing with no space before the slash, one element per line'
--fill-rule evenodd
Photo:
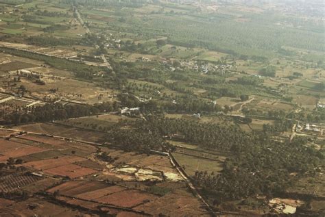
<path fill-rule="evenodd" d="M 73 162 L 81 162 L 84 160 L 85 160 L 85 158 L 83 158 L 83 157 L 77 157 L 77 156 L 71 155 L 71 156 L 64 156 L 64 157 L 58 157 L 58 158 L 52 158 L 52 159 L 44 159 L 44 160 L 39 160 L 36 162 L 28 162 L 28 163 L 23 164 L 23 166 L 36 168 L 38 170 L 48 170 L 50 168 L 64 166 L 67 164 L 71 164 Z"/>

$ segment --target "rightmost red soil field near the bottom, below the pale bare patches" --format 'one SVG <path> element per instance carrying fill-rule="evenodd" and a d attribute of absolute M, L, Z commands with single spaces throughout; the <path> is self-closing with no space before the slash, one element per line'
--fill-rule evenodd
<path fill-rule="evenodd" d="M 138 190 L 126 190 L 123 192 L 117 192 L 115 194 L 110 194 L 108 196 L 101 197 L 96 201 L 100 203 L 116 205 L 119 207 L 134 207 L 136 205 L 144 203 L 143 201 L 145 200 L 153 201 L 157 198 L 158 196 L 140 192 Z"/>

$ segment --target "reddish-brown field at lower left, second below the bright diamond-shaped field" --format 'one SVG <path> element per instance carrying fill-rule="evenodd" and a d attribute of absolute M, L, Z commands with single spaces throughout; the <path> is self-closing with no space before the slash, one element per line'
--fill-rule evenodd
<path fill-rule="evenodd" d="M 60 190 L 61 195 L 75 196 L 106 187 L 108 185 L 102 181 L 68 181 L 47 191 L 53 193 L 56 190 Z"/>

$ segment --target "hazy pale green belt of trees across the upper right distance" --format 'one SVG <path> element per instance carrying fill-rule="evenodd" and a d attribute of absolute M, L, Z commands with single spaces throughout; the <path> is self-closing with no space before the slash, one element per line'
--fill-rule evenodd
<path fill-rule="evenodd" d="M 67 2 L 71 2 L 68 1 Z M 296 47 L 324 51 L 324 43 L 321 40 L 320 26 L 315 23 L 293 21 L 290 17 L 283 17 L 274 12 L 245 13 L 237 10 L 237 14 L 204 14 L 197 8 L 181 6 L 179 12 L 165 10 L 163 5 L 156 3 L 160 8 L 145 14 L 145 17 L 135 16 L 136 8 L 145 7 L 144 1 L 75 1 L 83 5 L 85 14 L 94 12 L 97 8 L 114 8 L 115 20 L 109 23 L 113 31 L 128 32 L 141 35 L 146 38 L 158 38 L 164 36 L 170 44 L 184 47 L 206 47 L 210 50 L 231 53 L 233 55 L 248 55 L 272 57 L 275 54 L 283 54 L 282 47 Z M 127 7 L 128 10 L 121 10 Z M 94 12 L 96 13 L 96 11 Z M 104 18 L 110 13 L 100 13 Z M 243 21 L 237 18 L 243 17 Z M 287 28 L 287 23 L 302 24 L 298 29 Z M 298 19 L 298 18 L 297 18 Z M 188 28 L 191 23 L 191 28 Z M 280 25 L 274 25 L 280 23 Z M 288 25 L 289 26 L 289 25 Z M 158 28 L 157 28 L 158 27 Z M 284 30 L 285 28 L 285 30 Z M 314 31 L 309 31 L 313 29 Z M 308 38 L 308 40 L 307 40 Z M 321 45 L 320 45 L 321 44 Z M 292 55 L 289 51 L 286 55 Z M 294 53 L 294 52 L 293 52 Z"/>

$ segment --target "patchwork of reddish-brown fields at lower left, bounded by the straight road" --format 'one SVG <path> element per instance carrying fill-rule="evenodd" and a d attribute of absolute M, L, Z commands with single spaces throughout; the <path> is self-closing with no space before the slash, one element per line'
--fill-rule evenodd
<path fill-rule="evenodd" d="M 1 135 L 7 135 L 9 132 L 17 131 L 1 130 Z M 115 149 L 34 133 L 18 134 L 12 136 L 10 140 L 1 140 L 0 148 L 2 162 L 16 162 L 13 164 L 23 168 L 19 174 L 11 173 L 0 177 L 0 192 L 12 192 L 18 188 L 17 186 L 21 186 L 27 192 L 40 192 L 47 188 L 48 194 L 60 192 L 60 196 L 56 196 L 56 199 L 68 204 L 72 203 L 71 205 L 75 205 L 78 200 L 91 201 L 97 205 L 104 205 L 108 209 L 112 208 L 117 213 L 134 214 L 141 212 L 154 214 L 155 211 L 148 209 L 144 204 L 152 203 L 157 199 L 159 199 L 157 203 L 165 204 L 165 208 L 160 212 L 168 213 L 167 203 L 170 203 L 170 200 L 180 200 L 179 194 L 191 195 L 186 188 L 182 188 L 181 193 L 177 188 L 171 187 L 173 185 L 169 182 L 180 183 L 182 186 L 185 183 L 165 156 L 123 153 Z M 80 153 L 84 155 L 81 157 Z M 109 162 L 105 162 L 104 158 L 100 157 L 103 153 L 109 157 Z M 17 163 L 18 159 L 19 163 Z M 132 176 L 134 184 L 131 187 L 125 181 L 131 181 Z M 96 181 L 95 177 L 99 181 Z M 109 180 L 114 181 L 115 184 L 110 183 Z M 170 187 L 149 185 L 150 180 L 156 180 L 160 184 L 166 182 L 165 185 Z M 168 195 L 166 199 L 165 194 Z M 67 196 L 75 198 L 76 201 L 67 201 L 65 198 Z M 192 207 L 186 208 L 187 214 L 198 212 L 206 214 L 204 209 L 197 209 L 200 207 L 200 202 L 195 197 L 189 199 L 189 196 L 186 196 L 186 199 L 191 201 Z M 36 198 L 29 200 L 33 201 Z M 185 204 L 189 205 L 183 202 L 182 206 Z M 108 212 L 98 210 L 95 206 L 90 208 L 81 201 L 78 205 L 97 212 Z M 6 206 L 6 203 L 3 203 L 1 207 L 4 213 L 7 212 Z M 38 209 L 40 207 L 36 208 Z"/>

